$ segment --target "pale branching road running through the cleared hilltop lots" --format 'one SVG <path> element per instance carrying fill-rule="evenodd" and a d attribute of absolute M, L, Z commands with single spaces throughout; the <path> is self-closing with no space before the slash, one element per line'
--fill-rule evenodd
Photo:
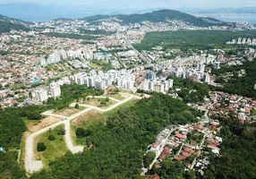
<path fill-rule="evenodd" d="M 125 93 L 125 94 L 127 94 L 127 93 Z M 40 134 L 42 134 L 44 132 L 47 132 L 49 129 L 53 129 L 53 128 L 55 128 L 56 126 L 58 126 L 60 124 L 64 124 L 64 128 L 65 128 L 64 140 L 65 140 L 67 149 L 69 149 L 73 154 L 81 152 L 83 150 L 83 148 L 84 148 L 83 146 L 74 146 L 73 145 L 73 141 L 72 141 L 72 137 L 71 137 L 71 130 L 70 130 L 70 123 L 71 123 L 71 121 L 74 118 L 87 113 L 91 109 L 95 109 L 95 110 L 98 110 L 98 111 L 101 111 L 101 112 L 107 112 L 107 111 L 113 110 L 115 107 L 119 107 L 120 105 L 123 105 L 124 103 L 128 102 L 132 98 L 139 98 L 139 97 L 131 95 L 131 94 L 127 94 L 127 95 L 129 95 L 130 97 L 125 98 L 122 101 L 111 98 L 112 100 L 115 100 L 118 103 L 116 103 L 115 105 L 113 105 L 111 107 L 108 107 L 107 109 L 102 109 L 102 108 L 99 108 L 99 107 L 93 107 L 93 106 L 90 106 L 90 105 L 82 105 L 82 104 L 80 104 L 81 107 L 87 107 L 87 108 L 82 110 L 81 112 L 75 114 L 75 115 L 70 116 L 70 117 L 65 116 L 65 115 L 56 115 L 51 110 L 42 113 L 42 115 L 55 116 L 57 118 L 63 119 L 63 121 L 60 121 L 58 123 L 49 125 L 46 128 L 39 130 L 38 132 L 31 133 L 27 137 L 27 139 L 26 139 L 26 146 L 25 146 L 25 151 L 26 151 L 26 154 L 25 154 L 25 169 L 26 169 L 26 171 L 28 173 L 37 172 L 38 170 L 42 169 L 43 166 L 44 166 L 42 161 L 35 160 L 35 158 L 34 158 L 34 150 L 35 150 L 34 149 L 34 141 L 35 141 L 35 138 L 38 135 L 40 135 Z M 71 106 L 74 107 L 75 104 L 76 103 L 73 103 Z"/>

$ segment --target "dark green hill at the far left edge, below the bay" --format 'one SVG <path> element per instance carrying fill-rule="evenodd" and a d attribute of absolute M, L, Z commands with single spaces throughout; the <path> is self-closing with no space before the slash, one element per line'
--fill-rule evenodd
<path fill-rule="evenodd" d="M 16 20 L 13 18 L 0 15 L 0 33 L 10 32 L 11 30 L 30 30 L 29 22 Z"/>

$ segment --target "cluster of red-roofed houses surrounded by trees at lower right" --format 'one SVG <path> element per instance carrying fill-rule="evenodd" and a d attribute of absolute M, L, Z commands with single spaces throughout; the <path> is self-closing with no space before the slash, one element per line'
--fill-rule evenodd
<path fill-rule="evenodd" d="M 217 120 L 168 126 L 158 134 L 155 143 L 149 145 L 147 152 L 154 152 L 156 158 L 148 168 L 141 168 L 141 175 L 147 174 L 154 165 L 161 166 L 166 158 L 181 161 L 185 170 L 197 170 L 204 175 L 202 170 L 209 166 L 209 151 L 219 155 L 223 142 L 218 136 L 220 128 Z"/>

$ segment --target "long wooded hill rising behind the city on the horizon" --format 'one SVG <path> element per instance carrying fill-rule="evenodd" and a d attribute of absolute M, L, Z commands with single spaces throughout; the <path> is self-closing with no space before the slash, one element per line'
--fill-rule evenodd
<path fill-rule="evenodd" d="M 160 11 L 154 11 L 152 13 L 130 14 L 130 15 L 126 15 L 126 14 L 95 15 L 95 16 L 82 18 L 82 20 L 95 23 L 96 21 L 101 21 L 109 18 L 119 19 L 122 21 L 123 24 L 141 23 L 142 21 L 159 22 L 159 21 L 166 21 L 166 20 L 178 20 L 178 21 L 185 21 L 199 27 L 227 25 L 227 23 L 225 22 L 220 23 L 218 20 L 207 21 L 205 19 L 192 16 L 188 13 L 182 13 L 175 10 L 160 10 Z"/>

